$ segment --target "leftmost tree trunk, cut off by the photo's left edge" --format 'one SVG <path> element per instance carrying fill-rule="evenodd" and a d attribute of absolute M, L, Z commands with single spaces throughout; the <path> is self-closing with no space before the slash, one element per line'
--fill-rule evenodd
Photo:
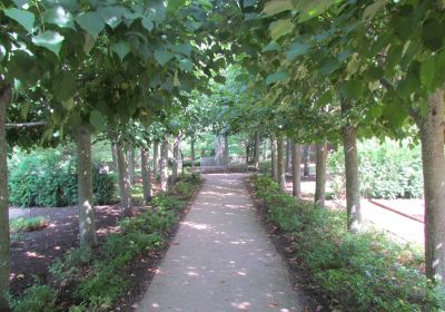
<path fill-rule="evenodd" d="M 8 209 L 8 158 L 6 137 L 7 106 L 11 100 L 11 88 L 0 77 L 0 311 L 8 311 L 4 294 L 9 292 L 10 236 Z"/>

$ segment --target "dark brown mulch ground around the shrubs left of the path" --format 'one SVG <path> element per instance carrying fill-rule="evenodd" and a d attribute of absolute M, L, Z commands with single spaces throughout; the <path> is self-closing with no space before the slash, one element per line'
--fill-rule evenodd
<path fill-rule="evenodd" d="M 156 191 L 155 188 L 155 194 Z M 178 224 L 167 235 L 165 247 L 139 256 L 128 267 L 128 274 L 131 277 L 130 286 L 116 308 L 117 311 L 134 311 L 137 308 L 137 303 L 150 284 L 156 269 L 175 238 L 180 221 L 185 218 L 194 201 L 195 197 L 188 202 L 187 208 L 180 213 Z M 134 212 L 138 214 L 147 208 L 147 206 L 135 206 Z M 36 215 L 43 215 L 50 220 L 50 225 L 34 232 L 12 234 L 16 238 L 11 243 L 11 293 L 14 295 L 21 294 L 27 287 L 34 284 L 36 279 L 42 284 L 48 283 L 50 280 L 49 266 L 57 259 L 63 256 L 67 251 L 79 246 L 79 221 L 76 207 L 36 208 L 36 212 L 32 212 L 30 216 Z M 108 233 L 116 232 L 116 225 L 121 215 L 119 205 L 96 206 L 99 245 L 105 241 Z M 72 285 L 62 287 L 59 305 L 69 306 L 78 303 L 72 301 L 71 291 Z M 67 302 L 67 300 L 72 302 Z"/>

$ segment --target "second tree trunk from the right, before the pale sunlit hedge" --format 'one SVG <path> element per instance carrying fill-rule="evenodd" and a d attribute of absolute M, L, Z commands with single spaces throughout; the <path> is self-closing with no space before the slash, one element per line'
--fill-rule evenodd
<path fill-rule="evenodd" d="M 347 227 L 357 233 L 362 228 L 360 185 L 358 179 L 357 137 L 353 126 L 344 127 L 344 150 L 346 173 Z"/>

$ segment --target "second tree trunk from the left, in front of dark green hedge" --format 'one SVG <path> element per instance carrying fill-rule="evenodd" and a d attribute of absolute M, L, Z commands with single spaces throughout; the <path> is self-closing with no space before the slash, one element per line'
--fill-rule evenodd
<path fill-rule="evenodd" d="M 91 135 L 86 126 L 79 126 L 76 135 L 80 246 L 92 247 L 97 244 L 97 236 L 92 195 Z"/>

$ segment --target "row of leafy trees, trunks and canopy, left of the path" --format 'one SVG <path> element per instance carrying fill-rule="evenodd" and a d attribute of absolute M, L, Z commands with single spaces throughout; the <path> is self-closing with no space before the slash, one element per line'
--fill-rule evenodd
<path fill-rule="evenodd" d="M 209 79 L 222 79 L 219 68 L 231 58 L 225 31 L 237 11 L 220 1 L 1 2 L 1 311 L 9 290 L 7 147 L 76 140 L 80 244 L 96 244 L 91 135 L 116 146 L 126 215 L 131 202 L 125 148 L 141 148 L 147 186 L 148 147 L 160 144 L 167 188 L 167 139 L 175 137 L 177 155 L 178 139 L 192 135 L 192 120 L 179 113 L 194 90 L 205 92 Z"/>

